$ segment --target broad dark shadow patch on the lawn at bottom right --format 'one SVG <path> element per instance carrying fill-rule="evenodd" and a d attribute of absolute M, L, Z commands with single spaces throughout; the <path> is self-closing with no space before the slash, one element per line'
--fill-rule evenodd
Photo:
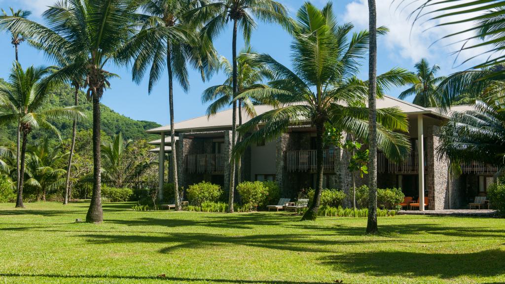
<path fill-rule="evenodd" d="M 374 276 L 498 276 L 505 273 L 505 251 L 494 249 L 475 253 L 418 253 L 379 251 L 350 253 L 322 258 L 337 271 Z"/>

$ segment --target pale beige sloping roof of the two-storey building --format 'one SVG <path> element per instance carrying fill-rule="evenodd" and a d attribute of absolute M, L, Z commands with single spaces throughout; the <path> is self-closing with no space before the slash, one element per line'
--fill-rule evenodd
<path fill-rule="evenodd" d="M 398 98 L 384 96 L 382 99 L 377 100 L 377 109 L 391 108 L 391 107 L 399 107 L 401 111 L 407 114 L 431 114 L 442 119 L 447 119 L 449 117 L 448 114 L 443 114 L 437 108 L 424 108 Z M 459 108 L 464 108 L 465 106 L 457 106 L 452 107 L 451 110 L 460 110 Z M 467 106 L 468 107 L 468 106 Z M 274 107 L 270 105 L 259 105 L 255 106 L 255 110 L 257 114 L 263 114 L 267 111 L 273 110 Z M 238 113 L 237 113 L 238 120 Z M 247 122 L 250 120 L 250 117 L 245 115 L 242 117 L 242 122 Z M 207 115 L 180 121 L 175 123 L 175 131 L 183 132 L 195 132 L 202 131 L 205 129 L 215 129 L 215 128 L 231 128 L 232 125 L 232 109 L 227 109 L 224 111 L 220 111 L 215 115 L 208 117 Z M 153 128 L 146 130 L 147 133 L 161 133 L 161 132 L 169 132 L 170 125 L 161 126 L 158 128 Z M 154 141 L 153 141 L 154 142 Z M 160 140 L 161 142 L 161 140 Z M 158 143 L 159 144 L 159 143 Z"/>

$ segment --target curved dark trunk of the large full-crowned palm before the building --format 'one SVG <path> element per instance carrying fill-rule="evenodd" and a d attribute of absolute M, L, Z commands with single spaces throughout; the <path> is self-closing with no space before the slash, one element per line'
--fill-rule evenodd
<path fill-rule="evenodd" d="M 316 121 L 316 190 L 314 192 L 314 200 L 304 216 L 301 217 L 301 220 L 316 220 L 319 206 L 321 205 L 321 193 L 323 192 L 323 133 L 324 121 L 318 120 Z"/>

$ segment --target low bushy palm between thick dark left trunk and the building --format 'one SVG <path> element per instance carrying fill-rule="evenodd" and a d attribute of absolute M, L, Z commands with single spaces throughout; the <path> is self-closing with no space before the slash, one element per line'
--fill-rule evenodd
<path fill-rule="evenodd" d="M 133 153 L 133 141 L 124 140 L 119 132 L 111 142 L 102 143 L 102 174 L 104 181 L 117 188 L 123 188 L 139 180 L 155 161 L 146 153 Z"/>

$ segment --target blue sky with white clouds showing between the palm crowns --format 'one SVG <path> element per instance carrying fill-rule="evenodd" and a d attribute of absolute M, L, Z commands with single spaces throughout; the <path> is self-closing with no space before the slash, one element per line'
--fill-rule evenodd
<path fill-rule="evenodd" d="M 33 12 L 32 20 L 41 21 L 40 14 L 47 5 L 51 5 L 55 0 L 0 0 L 0 8 L 7 10 L 9 7 L 15 9 L 30 10 Z M 378 42 L 378 74 L 393 67 L 403 67 L 411 70 L 415 62 L 422 57 L 426 57 L 430 63 L 437 63 L 441 66 L 441 74 L 449 74 L 462 70 L 468 66 L 457 66 L 453 64 L 454 56 L 450 53 L 457 49 L 457 46 L 446 46 L 447 42 L 440 42 L 430 47 L 430 44 L 444 34 L 447 28 L 430 29 L 422 31 L 428 27 L 424 24 L 411 30 L 412 24 L 407 20 L 406 12 L 397 12 L 391 8 L 392 0 L 378 1 L 378 25 L 385 25 L 390 28 L 390 33 L 379 39 Z M 304 1 L 282 0 L 283 4 L 293 14 Z M 326 1 L 315 0 L 314 4 L 322 7 Z M 334 0 L 333 7 L 340 22 L 352 22 L 357 29 L 368 27 L 368 8 L 366 0 Z M 454 27 L 451 27 L 454 28 Z M 273 24 L 263 24 L 259 22 L 258 28 L 252 34 L 251 44 L 256 51 L 270 54 L 273 58 L 289 66 L 289 44 L 290 36 L 280 27 Z M 239 41 L 239 49 L 243 41 Z M 231 29 L 223 33 L 215 42 L 217 51 L 231 58 Z M 10 43 L 10 36 L 6 33 L 0 34 L 0 54 L 2 54 L 2 68 L 0 77 L 6 78 L 12 61 L 14 60 L 14 48 Z M 26 67 L 28 65 L 49 65 L 42 53 L 30 48 L 23 43 L 19 51 L 20 63 Z M 457 67 L 455 67 L 457 66 Z M 110 66 L 111 72 L 121 76 L 120 79 L 111 80 L 112 88 L 108 89 L 103 97 L 103 103 L 113 110 L 137 120 L 156 121 L 160 124 L 168 124 L 168 80 L 161 80 L 151 94 L 147 93 L 147 80 L 137 85 L 131 80 L 130 69 L 126 67 Z M 366 79 L 368 76 L 367 63 L 363 63 L 360 77 Z M 166 76 L 165 76 L 166 77 Z M 222 74 L 215 75 L 211 80 L 202 82 L 198 73 L 190 73 L 191 89 L 184 93 L 177 85 L 174 87 L 175 120 L 181 121 L 195 116 L 205 114 L 206 105 L 201 103 L 201 92 L 216 84 L 221 84 L 224 80 Z M 401 89 L 392 89 L 389 94 L 397 96 Z M 410 99 L 412 100 L 412 98 Z"/>

